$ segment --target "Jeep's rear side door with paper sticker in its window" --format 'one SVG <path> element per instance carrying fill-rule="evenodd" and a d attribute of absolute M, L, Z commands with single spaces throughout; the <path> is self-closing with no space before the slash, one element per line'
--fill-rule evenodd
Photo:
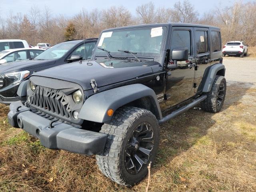
<path fill-rule="evenodd" d="M 194 93 L 196 93 L 200 82 L 202 81 L 204 71 L 210 66 L 210 39 L 208 28 L 194 28 L 196 66 L 195 66 L 195 82 L 193 85 Z"/>

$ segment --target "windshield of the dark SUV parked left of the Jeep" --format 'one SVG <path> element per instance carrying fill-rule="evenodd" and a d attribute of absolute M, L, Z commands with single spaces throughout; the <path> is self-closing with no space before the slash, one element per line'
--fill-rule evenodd
<path fill-rule="evenodd" d="M 64 56 L 68 50 L 73 48 L 77 42 L 63 42 L 60 44 L 56 44 L 44 52 L 42 52 L 40 55 L 36 56 L 34 60 L 51 60 L 51 59 L 58 59 Z"/>

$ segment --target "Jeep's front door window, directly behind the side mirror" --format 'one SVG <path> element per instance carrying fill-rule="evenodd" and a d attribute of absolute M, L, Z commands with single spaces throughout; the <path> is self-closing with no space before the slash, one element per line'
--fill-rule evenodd
<path fill-rule="evenodd" d="M 190 31 L 174 30 L 172 32 L 171 50 L 176 48 L 188 48 L 188 55 L 191 55 Z"/>

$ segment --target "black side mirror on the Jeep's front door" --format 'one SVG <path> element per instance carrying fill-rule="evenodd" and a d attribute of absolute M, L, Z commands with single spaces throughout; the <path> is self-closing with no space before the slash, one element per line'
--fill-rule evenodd
<path fill-rule="evenodd" d="M 172 60 L 174 64 L 168 64 L 168 69 L 177 68 L 177 61 L 188 60 L 188 48 L 176 48 L 172 50 Z"/>

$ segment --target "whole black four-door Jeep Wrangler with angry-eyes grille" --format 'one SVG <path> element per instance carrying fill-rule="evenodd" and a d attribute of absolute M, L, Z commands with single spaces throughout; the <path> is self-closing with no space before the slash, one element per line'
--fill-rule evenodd
<path fill-rule="evenodd" d="M 96 154 L 107 177 L 131 186 L 156 157 L 159 124 L 226 94 L 220 28 L 149 24 L 104 30 L 91 60 L 35 72 L 9 123 L 43 146 Z M 162 114 L 167 114 L 162 116 Z"/>

